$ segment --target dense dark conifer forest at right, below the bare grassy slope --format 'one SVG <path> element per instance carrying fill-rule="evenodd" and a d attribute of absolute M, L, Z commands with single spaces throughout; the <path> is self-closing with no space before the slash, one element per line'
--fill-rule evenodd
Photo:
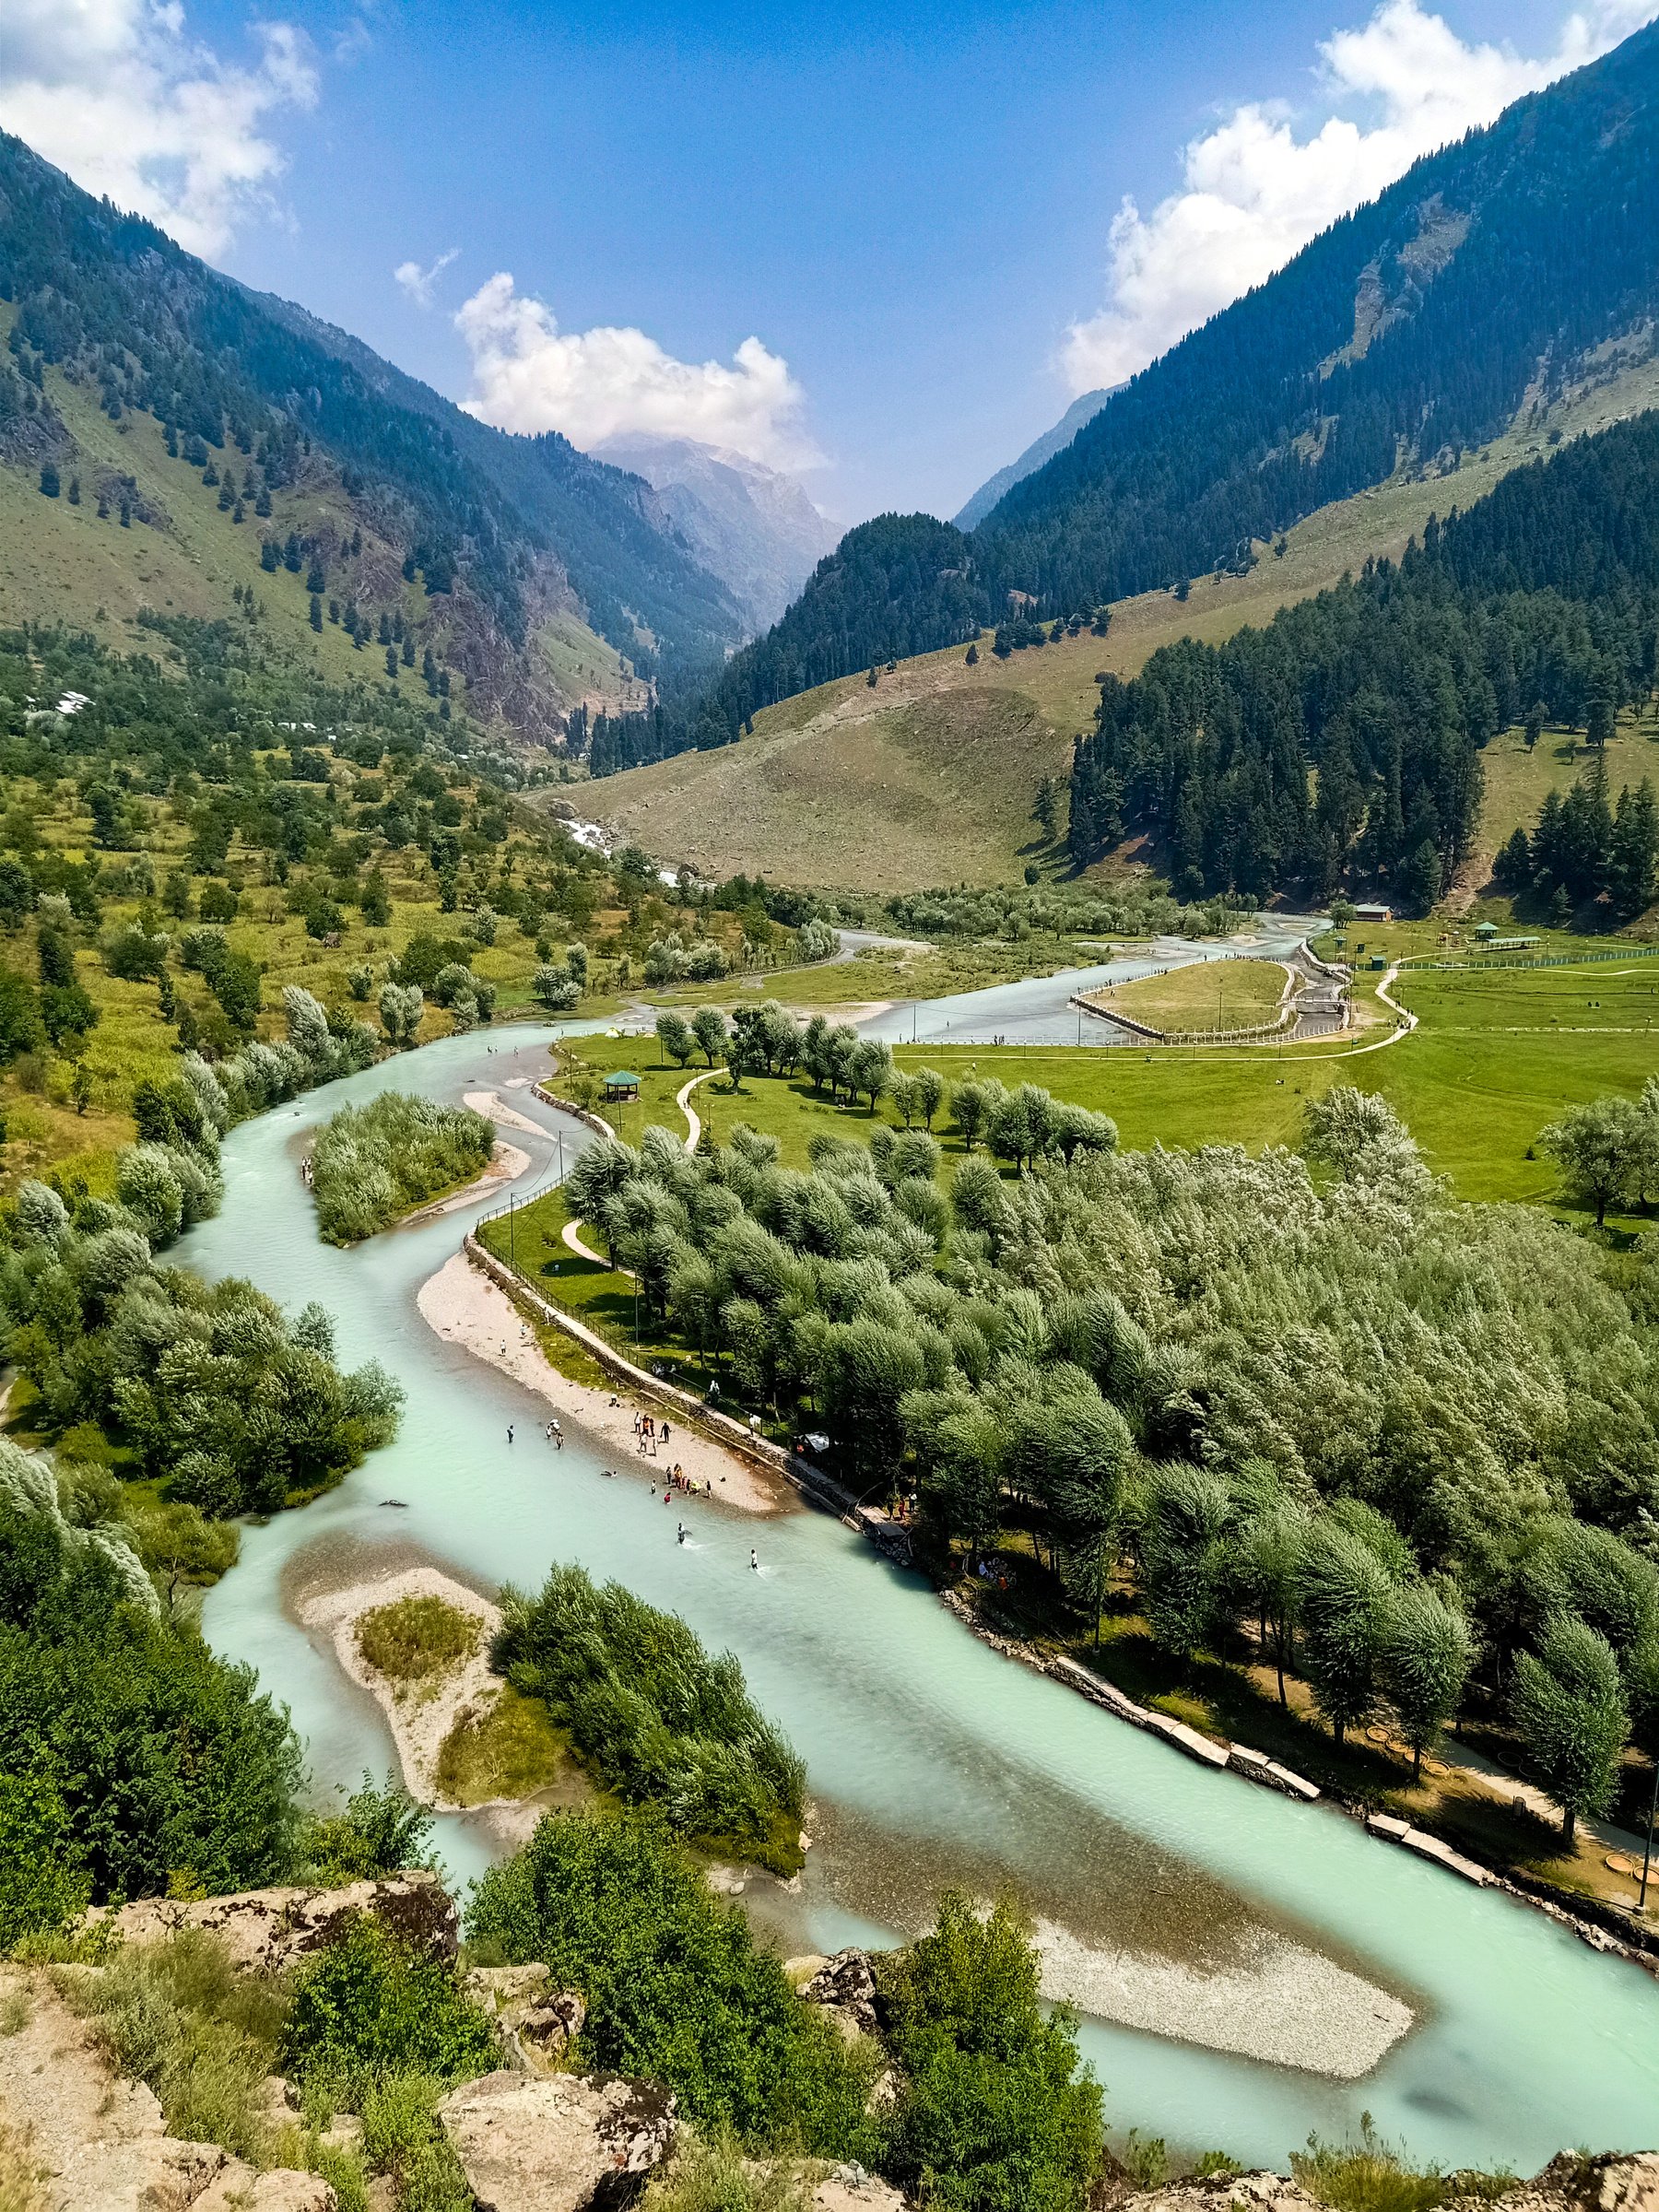
<path fill-rule="evenodd" d="M 1659 414 L 1644 414 L 1513 471 L 1398 566 L 1104 677 L 1073 856 L 1144 830 L 1179 896 L 1329 896 L 1356 869 L 1429 907 L 1475 832 L 1486 739 L 1526 717 L 1604 743 L 1652 692 L 1657 653 Z"/>

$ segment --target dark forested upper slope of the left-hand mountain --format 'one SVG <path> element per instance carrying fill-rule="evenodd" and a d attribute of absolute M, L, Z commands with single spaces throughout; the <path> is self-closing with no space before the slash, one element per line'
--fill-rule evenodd
<path fill-rule="evenodd" d="M 53 378 L 102 414 L 150 418 L 170 447 L 228 484 L 246 478 L 254 524 L 272 498 L 327 478 L 338 538 L 369 531 L 405 580 L 420 573 L 453 655 L 484 703 L 549 728 L 538 626 L 580 617 L 644 672 L 714 661 L 743 633 L 721 582 L 699 568 L 650 487 L 564 438 L 509 438 L 403 376 L 303 310 L 248 292 L 137 217 L 77 190 L 0 133 L 0 301 L 11 363 L 0 376 L 0 462 L 53 465 L 80 445 Z M 199 449 L 199 458 L 197 458 Z M 119 471 L 117 471 L 119 473 Z M 166 531 L 159 518 L 131 520 Z M 332 591 L 332 586 L 330 586 Z"/>

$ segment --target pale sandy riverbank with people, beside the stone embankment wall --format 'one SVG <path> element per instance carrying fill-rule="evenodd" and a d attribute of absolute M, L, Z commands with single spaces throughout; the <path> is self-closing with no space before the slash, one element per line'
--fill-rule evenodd
<path fill-rule="evenodd" d="M 639 1411 L 637 1400 L 622 1387 L 615 1391 L 593 1389 L 588 1383 L 562 1376 L 549 1363 L 507 1292 L 480 1274 L 465 1252 L 456 1252 L 434 1276 L 427 1276 L 416 1303 L 429 1329 L 471 1352 L 473 1358 L 487 1360 L 513 1383 L 522 1383 L 524 1389 L 533 1389 L 557 1413 L 560 1422 L 573 1422 L 586 1431 L 595 1444 L 611 1453 L 617 1475 L 644 1475 L 661 1489 L 668 1469 L 679 1464 L 699 1491 L 712 1484 L 712 1500 L 675 1491 L 675 1504 L 681 1511 L 712 1502 L 734 1506 L 739 1513 L 779 1513 L 792 1502 L 783 1478 L 768 1478 L 761 1469 L 739 1460 L 737 1453 L 681 1427 L 672 1413 L 668 1416 L 668 1442 L 657 1444 L 655 1453 L 641 1453 L 633 1427 Z M 650 1411 L 661 1427 L 661 1409 L 650 1407 Z M 529 1451 L 551 1449 L 540 1429 L 520 1431 L 520 1440 Z"/>

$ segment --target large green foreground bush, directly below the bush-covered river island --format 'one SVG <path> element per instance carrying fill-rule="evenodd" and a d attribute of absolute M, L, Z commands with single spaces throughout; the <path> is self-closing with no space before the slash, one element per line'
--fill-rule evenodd
<path fill-rule="evenodd" d="M 580 1989 L 582 2062 L 664 2081 L 697 2128 L 874 2157 L 876 2051 L 849 2048 L 794 1995 L 661 1820 L 549 1816 L 484 1874 L 467 1931 L 509 1964 L 542 1960 L 557 1989 Z"/>

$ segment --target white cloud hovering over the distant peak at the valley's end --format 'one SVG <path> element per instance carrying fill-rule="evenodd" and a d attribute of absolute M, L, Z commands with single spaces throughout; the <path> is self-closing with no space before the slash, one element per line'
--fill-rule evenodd
<path fill-rule="evenodd" d="M 500 272 L 456 314 L 473 356 L 469 414 L 498 429 L 557 429 L 591 449 L 622 431 L 723 445 L 770 469 L 821 456 L 801 431 L 805 392 L 759 338 L 732 365 L 675 361 L 644 330 L 562 332 L 540 299 Z"/>

